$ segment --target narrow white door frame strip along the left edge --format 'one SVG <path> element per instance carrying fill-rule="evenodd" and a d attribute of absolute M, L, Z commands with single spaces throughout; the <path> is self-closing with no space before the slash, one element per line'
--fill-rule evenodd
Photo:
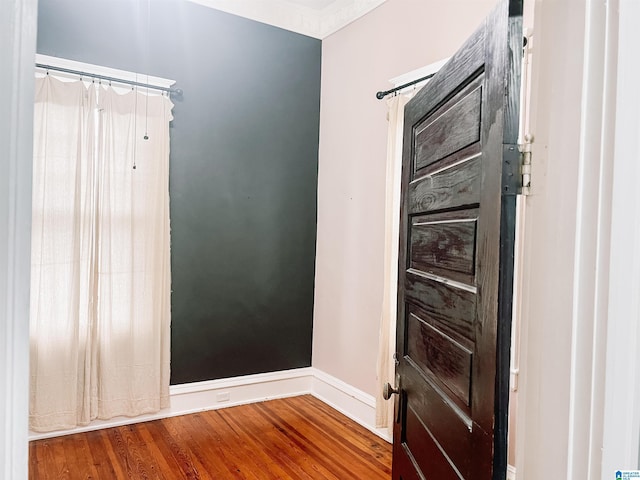
<path fill-rule="evenodd" d="M 0 477 L 28 471 L 31 164 L 37 0 L 0 14 Z"/>

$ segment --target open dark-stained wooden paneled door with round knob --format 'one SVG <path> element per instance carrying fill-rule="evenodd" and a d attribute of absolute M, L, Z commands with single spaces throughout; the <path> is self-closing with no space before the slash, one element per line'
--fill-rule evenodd
<path fill-rule="evenodd" d="M 394 480 L 504 479 L 522 1 L 405 110 Z"/>

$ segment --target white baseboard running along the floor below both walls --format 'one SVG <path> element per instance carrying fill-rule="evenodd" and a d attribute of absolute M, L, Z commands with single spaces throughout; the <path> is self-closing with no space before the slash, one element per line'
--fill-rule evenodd
<path fill-rule="evenodd" d="M 391 441 L 386 430 L 375 428 L 375 399 L 371 395 L 313 367 L 172 385 L 170 387 L 171 407 L 167 409 L 132 418 L 94 420 L 89 425 L 70 430 L 47 433 L 29 432 L 29 440 L 41 440 L 305 394 L 315 396 L 384 440 Z"/>

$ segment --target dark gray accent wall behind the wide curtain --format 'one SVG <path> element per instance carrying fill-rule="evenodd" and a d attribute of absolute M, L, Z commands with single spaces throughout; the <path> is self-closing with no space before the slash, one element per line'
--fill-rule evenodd
<path fill-rule="evenodd" d="M 40 0 L 38 53 L 184 90 L 171 127 L 171 382 L 309 366 L 320 41 L 186 1 L 151 0 L 149 17 L 147 5 Z"/>

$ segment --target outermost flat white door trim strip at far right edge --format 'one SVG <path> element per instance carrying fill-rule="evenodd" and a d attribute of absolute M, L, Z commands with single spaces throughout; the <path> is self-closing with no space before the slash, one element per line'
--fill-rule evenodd
<path fill-rule="evenodd" d="M 609 320 L 602 382 L 606 387 L 604 418 L 600 419 L 604 425 L 602 478 L 627 465 L 640 467 L 640 190 L 637 187 L 640 145 L 629 141 L 640 134 L 637 109 L 640 63 L 634 43 L 640 4 L 635 0 L 619 0 L 608 5 L 613 11 L 619 7 L 619 15 L 607 17 L 610 32 L 607 40 L 617 41 L 617 65 L 604 66 L 610 82 L 617 82 L 617 98 L 609 95 L 605 103 L 605 110 L 614 112 L 616 131 L 609 132 L 615 138 L 609 138 L 613 141 L 613 213 L 609 283 L 603 286 L 609 295 Z M 634 262 L 631 268 L 629 259 Z"/>

